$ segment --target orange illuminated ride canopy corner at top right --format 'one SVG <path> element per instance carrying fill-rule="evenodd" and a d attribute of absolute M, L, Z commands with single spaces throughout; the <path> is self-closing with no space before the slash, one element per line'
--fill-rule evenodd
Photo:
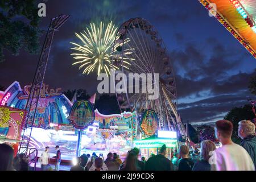
<path fill-rule="evenodd" d="M 255 3 L 253 1 L 199 0 L 200 3 L 236 38 L 256 59 Z M 241 3 L 242 2 L 242 3 Z M 214 10 L 214 3 L 216 10 Z M 243 4 L 243 5 L 242 5 Z M 248 4 L 248 6 L 246 6 Z M 249 5 L 253 8 L 249 8 Z M 246 8 L 247 7 L 247 8 Z M 249 13 L 248 13 L 249 12 Z M 253 14 L 253 18 L 248 16 Z"/>

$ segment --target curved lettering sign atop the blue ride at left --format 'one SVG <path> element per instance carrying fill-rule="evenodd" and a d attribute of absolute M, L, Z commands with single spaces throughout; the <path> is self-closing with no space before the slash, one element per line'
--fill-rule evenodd
<path fill-rule="evenodd" d="M 27 99 L 28 96 L 30 95 L 30 90 L 31 90 L 31 85 L 24 86 L 25 95 L 20 96 L 19 99 Z M 40 92 L 40 97 L 45 98 L 45 97 L 51 97 L 51 96 L 60 96 L 62 94 L 60 90 L 61 88 L 49 89 L 49 85 L 43 84 Z M 39 89 L 37 90 L 37 92 L 35 92 L 34 97 L 37 97 L 38 94 L 39 94 Z"/>

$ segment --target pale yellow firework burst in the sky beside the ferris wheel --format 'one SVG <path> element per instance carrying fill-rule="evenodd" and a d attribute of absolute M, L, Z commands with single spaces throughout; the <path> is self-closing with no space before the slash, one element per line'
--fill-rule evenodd
<path fill-rule="evenodd" d="M 86 28 L 80 34 L 76 34 L 82 44 L 72 43 L 76 47 L 71 49 L 76 50 L 76 53 L 72 53 L 75 59 L 75 64 L 80 64 L 79 69 L 84 69 L 83 74 L 89 75 L 89 73 L 97 71 L 97 75 L 100 73 L 106 73 L 110 75 L 110 69 L 119 69 L 117 66 L 112 65 L 113 45 L 115 41 L 115 35 L 117 33 L 117 27 L 113 22 L 105 25 L 100 23 L 100 26 L 96 26 L 94 23 L 90 23 L 90 27 Z M 125 40 L 125 43 L 129 40 Z M 117 51 L 118 44 L 114 47 L 114 52 Z M 129 49 L 124 50 L 124 55 L 131 54 Z M 122 57 L 119 57 L 122 59 Z M 126 58 L 124 58 L 126 59 Z M 129 69 L 129 60 L 122 61 L 123 67 Z"/>

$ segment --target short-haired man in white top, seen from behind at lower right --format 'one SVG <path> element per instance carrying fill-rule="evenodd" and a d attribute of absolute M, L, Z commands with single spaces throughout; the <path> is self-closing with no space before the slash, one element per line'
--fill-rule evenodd
<path fill-rule="evenodd" d="M 232 122 L 216 122 L 216 138 L 220 140 L 222 147 L 213 152 L 212 171 L 255 171 L 253 160 L 245 148 L 232 141 L 232 131 Z"/>

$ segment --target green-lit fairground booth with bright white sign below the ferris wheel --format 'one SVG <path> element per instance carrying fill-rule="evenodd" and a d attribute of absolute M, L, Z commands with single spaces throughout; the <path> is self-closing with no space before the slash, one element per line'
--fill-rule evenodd
<path fill-rule="evenodd" d="M 134 147 L 139 148 L 141 156 L 146 160 L 150 158 L 151 154 L 158 155 L 160 148 L 166 144 L 166 157 L 171 159 L 173 152 L 177 148 L 177 133 L 176 131 L 160 131 L 158 130 L 155 135 L 151 137 L 134 140 Z"/>

